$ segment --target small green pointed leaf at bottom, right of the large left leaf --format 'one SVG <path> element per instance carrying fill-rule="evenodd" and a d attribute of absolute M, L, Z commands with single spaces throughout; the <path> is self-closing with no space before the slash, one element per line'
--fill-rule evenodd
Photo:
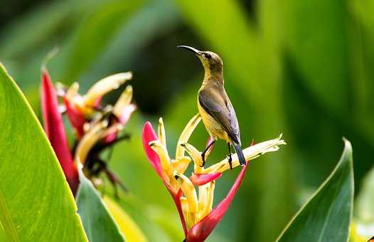
<path fill-rule="evenodd" d="M 124 241 L 117 223 L 105 207 L 100 195 L 90 180 L 80 172 L 80 187 L 77 194 L 78 214 L 90 242 Z"/>

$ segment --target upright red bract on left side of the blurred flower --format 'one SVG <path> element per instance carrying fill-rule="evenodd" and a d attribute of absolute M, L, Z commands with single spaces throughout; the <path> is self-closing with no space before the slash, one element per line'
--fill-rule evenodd
<path fill-rule="evenodd" d="M 46 69 L 42 70 L 41 106 L 46 135 L 63 168 L 70 189 L 75 194 L 79 184 L 78 171 L 69 150 L 68 140 L 63 127 L 63 118 L 58 111 L 57 93 Z"/>

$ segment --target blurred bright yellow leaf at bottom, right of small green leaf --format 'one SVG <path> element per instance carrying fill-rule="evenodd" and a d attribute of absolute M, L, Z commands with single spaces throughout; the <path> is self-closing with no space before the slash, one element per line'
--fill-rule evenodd
<path fill-rule="evenodd" d="M 141 232 L 137 223 L 132 220 L 120 206 L 118 206 L 112 199 L 108 196 L 103 197 L 103 201 L 107 206 L 110 214 L 112 214 L 114 220 L 117 222 L 121 232 L 124 234 L 124 238 L 129 242 L 146 242 L 146 236 Z"/>

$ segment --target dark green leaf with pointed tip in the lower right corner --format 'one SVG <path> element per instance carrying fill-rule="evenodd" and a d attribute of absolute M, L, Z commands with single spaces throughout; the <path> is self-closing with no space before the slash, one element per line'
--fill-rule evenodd
<path fill-rule="evenodd" d="M 277 241 L 348 241 L 353 208 L 353 159 L 351 142 L 338 165 Z"/>

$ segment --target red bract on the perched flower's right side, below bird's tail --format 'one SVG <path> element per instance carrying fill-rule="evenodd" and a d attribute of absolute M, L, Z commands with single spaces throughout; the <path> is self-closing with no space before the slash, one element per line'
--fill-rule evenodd
<path fill-rule="evenodd" d="M 228 192 L 228 195 L 223 199 L 220 204 L 218 204 L 215 209 L 213 209 L 208 216 L 206 216 L 203 220 L 196 223 L 195 226 L 193 226 L 190 231 L 188 231 L 186 241 L 187 242 L 201 242 L 204 241 L 210 233 L 212 233 L 213 229 L 217 224 L 220 222 L 220 220 L 225 215 L 226 211 L 228 210 L 228 207 L 231 204 L 231 201 L 233 201 L 234 196 L 237 192 L 237 189 L 239 189 L 240 184 L 242 183 L 242 179 L 244 178 L 245 171 L 247 170 L 248 165 L 245 167 L 242 167 L 242 170 L 240 171 L 240 174 L 237 176 L 237 179 L 235 183 L 233 184 L 233 187 Z"/>

